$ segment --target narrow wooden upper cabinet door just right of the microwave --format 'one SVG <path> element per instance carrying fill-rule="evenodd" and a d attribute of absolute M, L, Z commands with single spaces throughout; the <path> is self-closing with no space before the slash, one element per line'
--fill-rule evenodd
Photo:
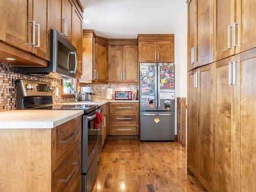
<path fill-rule="evenodd" d="M 77 67 L 76 74 L 82 74 L 82 17 L 75 6 L 72 12 L 72 44 L 76 47 Z"/>

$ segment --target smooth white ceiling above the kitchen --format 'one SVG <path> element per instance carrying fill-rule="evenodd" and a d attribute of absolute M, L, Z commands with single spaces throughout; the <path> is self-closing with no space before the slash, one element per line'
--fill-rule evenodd
<path fill-rule="evenodd" d="M 186 0 L 80 0 L 83 29 L 108 38 L 137 38 L 139 33 L 186 33 Z"/>

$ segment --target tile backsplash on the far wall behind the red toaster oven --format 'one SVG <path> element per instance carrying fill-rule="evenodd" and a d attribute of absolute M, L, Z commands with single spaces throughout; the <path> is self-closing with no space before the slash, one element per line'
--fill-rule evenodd
<path fill-rule="evenodd" d="M 82 84 L 81 87 L 91 87 L 93 94 L 93 100 L 106 100 L 106 89 L 112 88 L 113 92 L 115 91 L 133 91 L 135 92 L 138 89 L 137 84 Z M 114 93 L 113 93 L 114 97 Z M 114 98 L 113 98 L 114 99 Z"/>

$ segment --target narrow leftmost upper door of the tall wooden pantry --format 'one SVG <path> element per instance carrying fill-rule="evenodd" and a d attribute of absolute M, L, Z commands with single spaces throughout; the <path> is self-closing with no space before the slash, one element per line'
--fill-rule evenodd
<path fill-rule="evenodd" d="M 188 14 L 188 25 L 187 25 L 187 70 L 196 68 L 195 62 L 195 54 L 194 57 L 191 54 L 197 44 L 197 2 L 196 0 L 189 0 L 187 3 L 187 14 Z M 193 58 L 192 58 L 193 57 Z"/>

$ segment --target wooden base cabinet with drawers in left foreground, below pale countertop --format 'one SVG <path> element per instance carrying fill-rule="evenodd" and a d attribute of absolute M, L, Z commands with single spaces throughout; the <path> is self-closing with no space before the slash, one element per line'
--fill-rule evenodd
<path fill-rule="evenodd" d="M 1 191 L 78 191 L 81 132 L 82 116 L 52 129 L 0 129 Z"/>

